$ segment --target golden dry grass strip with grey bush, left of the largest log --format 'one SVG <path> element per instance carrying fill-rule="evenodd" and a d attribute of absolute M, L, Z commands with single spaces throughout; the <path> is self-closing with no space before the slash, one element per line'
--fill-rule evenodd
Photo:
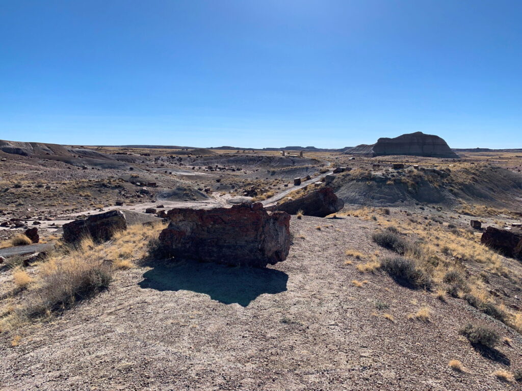
<path fill-rule="evenodd" d="M 114 270 L 134 267 L 136 260 L 147 255 L 148 243 L 163 228 L 161 223 L 133 225 L 115 233 L 106 243 L 94 243 L 87 237 L 74 248 L 64 246 L 37 266 L 28 295 L 13 316 L 2 319 L 2 328 L 16 324 L 16 319 L 23 323 L 50 316 L 96 295 L 109 286 Z M 17 285 L 31 282 L 23 270 L 16 270 L 14 278 L 18 279 Z"/>

